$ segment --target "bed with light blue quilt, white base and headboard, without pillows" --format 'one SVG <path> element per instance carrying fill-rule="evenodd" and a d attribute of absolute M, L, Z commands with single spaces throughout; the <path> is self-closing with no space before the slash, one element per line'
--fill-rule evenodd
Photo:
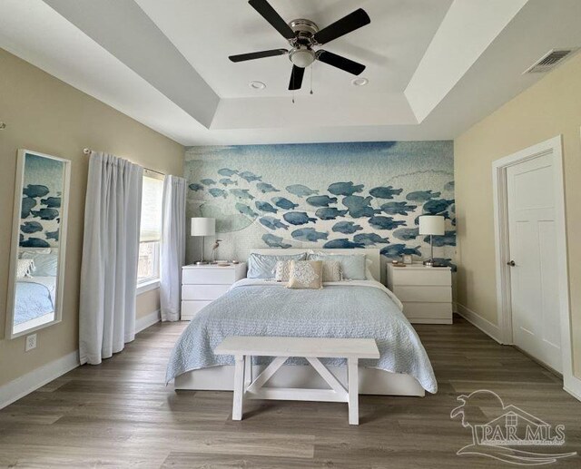
<path fill-rule="evenodd" d="M 285 249 L 296 254 L 306 249 Z M 358 249 L 358 253 L 361 250 Z M 280 249 L 255 249 L 259 254 L 281 254 Z M 325 249 L 325 253 L 354 253 Z M 378 249 L 365 249 L 369 270 L 379 278 Z M 166 381 L 176 389 L 232 390 L 233 357 L 213 354 L 228 336 L 372 337 L 379 360 L 359 365 L 359 393 L 424 396 L 438 384 L 424 347 L 401 312 L 398 298 L 374 279 L 325 283 L 319 290 L 293 290 L 272 280 L 244 278 L 192 319 L 173 347 Z M 321 360 L 341 383 L 346 366 L 341 360 Z M 260 373 L 270 358 L 255 358 Z M 318 373 L 300 359 L 289 360 L 269 386 L 321 387 Z"/>

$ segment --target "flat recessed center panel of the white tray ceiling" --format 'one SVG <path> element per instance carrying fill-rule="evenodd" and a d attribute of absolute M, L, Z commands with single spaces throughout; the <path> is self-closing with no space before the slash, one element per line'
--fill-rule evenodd
<path fill-rule="evenodd" d="M 135 0 L 192 67 L 221 98 L 288 96 L 292 64 L 288 56 L 233 64 L 232 54 L 289 49 L 287 41 L 250 5 L 241 0 L 178 0 L 168 8 L 158 0 Z M 327 64 L 315 64 L 313 89 L 325 94 L 402 93 L 452 0 L 272 0 L 287 22 L 308 18 L 324 26 L 362 7 L 371 24 L 326 44 L 323 49 L 365 64 L 369 85 L 356 88 L 353 78 Z M 266 83 L 251 90 L 251 80 Z M 309 73 L 301 93 L 309 93 Z"/>

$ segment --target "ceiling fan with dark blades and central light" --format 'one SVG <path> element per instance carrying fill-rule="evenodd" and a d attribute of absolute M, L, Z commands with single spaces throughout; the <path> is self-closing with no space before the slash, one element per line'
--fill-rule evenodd
<path fill-rule="evenodd" d="M 289 90 L 300 90 L 305 68 L 310 66 L 315 60 L 354 75 L 359 75 L 365 70 L 365 65 L 358 64 L 348 58 L 322 49 L 314 50 L 315 47 L 330 43 L 333 39 L 349 34 L 351 31 L 371 23 L 369 15 L 362 8 L 319 30 L 317 24 L 307 19 L 296 19 L 288 24 L 285 23 L 281 15 L 266 0 L 250 0 L 248 3 L 289 42 L 291 50 L 271 49 L 250 54 L 231 55 L 229 58 L 232 62 L 244 62 L 289 54 L 289 59 L 292 62 Z"/>

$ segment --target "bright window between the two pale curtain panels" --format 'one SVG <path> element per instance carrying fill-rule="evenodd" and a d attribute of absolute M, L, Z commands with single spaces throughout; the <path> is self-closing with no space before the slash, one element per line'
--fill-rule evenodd
<path fill-rule="evenodd" d="M 139 236 L 137 284 L 160 278 L 160 241 L 162 240 L 163 180 L 143 176 L 142 224 Z"/>

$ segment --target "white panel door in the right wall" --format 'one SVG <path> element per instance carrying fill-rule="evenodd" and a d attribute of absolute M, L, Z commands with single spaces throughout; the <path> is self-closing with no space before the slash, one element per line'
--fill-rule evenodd
<path fill-rule="evenodd" d="M 507 168 L 513 341 L 562 371 L 553 156 Z"/>

